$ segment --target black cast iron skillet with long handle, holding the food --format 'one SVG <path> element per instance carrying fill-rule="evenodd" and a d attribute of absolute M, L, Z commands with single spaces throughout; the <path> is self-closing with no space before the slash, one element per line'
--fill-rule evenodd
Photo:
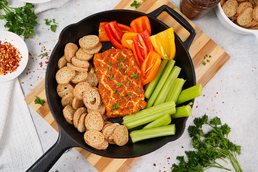
<path fill-rule="evenodd" d="M 179 15 L 176 11 L 174 11 L 166 5 L 163 5 L 148 14 L 131 10 L 103 11 L 86 17 L 85 19 L 79 21 L 76 24 L 71 24 L 65 27 L 62 30 L 59 36 L 59 41 L 54 47 L 54 50 L 48 61 L 45 83 L 48 106 L 59 129 L 58 140 L 27 171 L 49 171 L 50 168 L 54 165 L 54 163 L 56 163 L 56 161 L 61 157 L 61 155 L 67 149 L 72 147 L 81 147 L 91 153 L 101 155 L 103 157 L 133 158 L 151 153 L 157 150 L 158 148 L 164 146 L 168 142 L 177 140 L 183 134 L 187 118 L 178 118 L 172 120 L 172 123 L 176 126 L 176 134 L 173 136 L 164 136 L 160 138 L 143 140 L 140 142 L 136 142 L 134 144 L 132 144 L 132 140 L 129 138 L 128 143 L 124 146 L 109 144 L 106 150 L 97 150 L 91 146 L 88 146 L 85 143 L 83 138 L 84 133 L 78 132 L 78 130 L 73 125 L 66 122 L 62 114 L 63 107 L 61 105 L 61 98 L 58 96 L 56 92 L 56 87 L 58 85 L 55 79 L 55 74 L 58 71 L 57 62 L 58 59 L 64 55 L 64 47 L 67 43 L 73 42 L 79 46 L 78 41 L 81 37 L 89 34 L 97 35 L 99 22 L 116 20 L 118 23 L 130 26 L 130 22 L 133 19 L 136 19 L 137 17 L 140 17 L 142 15 L 148 16 L 150 20 L 152 29 L 151 34 L 157 34 L 169 28 L 166 24 L 157 19 L 157 16 L 159 16 L 163 11 L 166 11 L 169 15 L 171 15 L 179 24 L 181 24 L 190 33 L 190 36 L 187 38 L 185 42 L 182 42 L 181 39 L 177 36 L 177 34 L 175 34 L 175 65 L 182 68 L 179 77 L 186 79 L 183 89 L 196 85 L 196 77 L 193 68 L 193 62 L 188 52 L 189 46 L 196 35 L 196 31 L 181 15 Z M 111 48 L 111 46 L 112 44 L 109 42 L 103 43 L 103 50 L 107 50 Z M 193 101 L 194 100 L 191 100 L 191 102 Z M 185 104 L 189 102 L 190 101 L 186 102 Z M 114 120 L 116 122 L 119 122 L 120 124 L 122 123 L 122 119 L 110 119 L 110 121 Z M 140 128 L 142 128 L 142 126 L 134 128 L 134 130 Z"/>

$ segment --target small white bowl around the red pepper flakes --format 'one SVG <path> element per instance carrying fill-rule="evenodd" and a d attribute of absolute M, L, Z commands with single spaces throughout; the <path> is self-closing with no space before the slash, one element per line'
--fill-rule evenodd
<path fill-rule="evenodd" d="M 28 63 L 29 53 L 24 40 L 13 32 L 0 31 L 0 40 L 2 41 L 2 44 L 4 42 L 10 42 L 21 53 L 20 57 L 22 56 L 21 61 L 19 62 L 19 67 L 17 67 L 16 71 L 7 73 L 6 75 L 0 75 L 0 82 L 4 82 L 18 77 L 22 71 L 24 71 Z"/>

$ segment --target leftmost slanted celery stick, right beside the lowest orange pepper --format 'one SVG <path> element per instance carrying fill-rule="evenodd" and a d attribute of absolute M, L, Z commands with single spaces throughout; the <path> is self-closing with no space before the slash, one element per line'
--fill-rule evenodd
<path fill-rule="evenodd" d="M 166 65 L 168 63 L 168 60 L 162 60 L 161 64 L 159 65 L 159 69 L 157 70 L 157 73 L 155 74 L 155 77 L 144 87 L 144 97 L 149 98 L 151 93 L 153 92 L 155 86 L 157 85 L 159 78 L 161 77 L 161 74 L 163 73 Z"/>

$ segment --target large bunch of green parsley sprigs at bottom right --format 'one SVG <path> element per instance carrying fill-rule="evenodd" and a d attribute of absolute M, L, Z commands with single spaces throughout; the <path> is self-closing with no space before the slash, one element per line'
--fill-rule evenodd
<path fill-rule="evenodd" d="M 228 134 L 231 128 L 221 124 L 220 118 L 215 117 L 208 122 L 208 116 L 204 115 L 201 118 L 193 120 L 193 126 L 188 127 L 189 136 L 192 138 L 193 148 L 197 150 L 185 151 L 188 161 L 184 160 L 183 156 L 178 156 L 179 165 L 173 164 L 172 172 L 203 172 L 212 167 L 229 170 L 218 163 L 222 160 L 230 160 L 236 172 L 243 172 L 236 155 L 241 154 L 241 146 L 233 144 L 228 140 Z M 211 127 L 211 130 L 204 133 L 202 126 L 206 124 Z"/>

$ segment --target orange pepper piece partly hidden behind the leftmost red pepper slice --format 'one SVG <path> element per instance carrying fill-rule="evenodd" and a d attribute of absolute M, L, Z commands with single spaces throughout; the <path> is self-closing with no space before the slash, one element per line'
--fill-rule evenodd
<path fill-rule="evenodd" d="M 104 25 L 107 23 L 108 22 L 100 22 L 99 23 L 99 41 L 100 42 L 110 41 L 109 38 L 107 37 L 105 28 L 104 28 Z M 126 25 L 120 24 L 120 23 L 118 23 L 117 25 L 122 30 L 123 33 L 134 32 L 134 30 L 130 26 L 126 26 Z"/>

